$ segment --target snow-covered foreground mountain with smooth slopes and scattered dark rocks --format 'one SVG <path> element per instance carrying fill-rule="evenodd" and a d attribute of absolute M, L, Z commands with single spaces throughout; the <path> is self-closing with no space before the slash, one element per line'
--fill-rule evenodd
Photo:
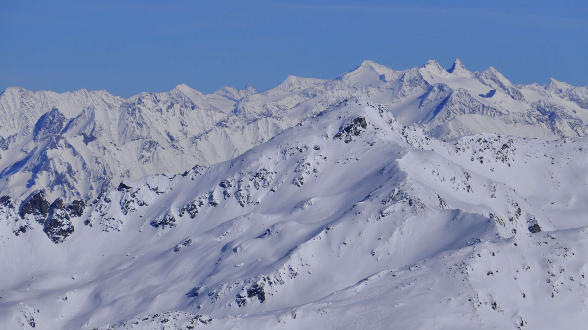
<path fill-rule="evenodd" d="M 95 201 L 0 200 L 0 324 L 581 326 L 585 139 L 441 142 L 349 99 L 235 159 Z"/>

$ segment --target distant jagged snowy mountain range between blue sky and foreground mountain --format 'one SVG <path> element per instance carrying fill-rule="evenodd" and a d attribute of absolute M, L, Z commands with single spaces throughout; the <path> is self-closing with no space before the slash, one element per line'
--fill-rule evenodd
<path fill-rule="evenodd" d="M 494 68 L 456 60 L 396 71 L 366 60 L 338 78 L 289 76 L 265 92 L 223 87 L 210 95 L 178 85 L 129 99 L 105 90 L 0 94 L 0 192 L 18 202 L 93 199 L 121 180 L 178 173 L 232 159 L 350 97 L 386 105 L 400 123 L 447 140 L 475 133 L 555 140 L 586 135 L 587 87 L 550 79 L 513 85 Z"/>

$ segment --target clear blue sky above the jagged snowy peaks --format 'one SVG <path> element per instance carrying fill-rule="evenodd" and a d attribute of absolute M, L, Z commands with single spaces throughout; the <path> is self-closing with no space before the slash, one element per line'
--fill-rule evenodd
<path fill-rule="evenodd" d="M 370 59 L 588 85 L 586 1 L 0 1 L 0 90 L 258 90 Z"/>

